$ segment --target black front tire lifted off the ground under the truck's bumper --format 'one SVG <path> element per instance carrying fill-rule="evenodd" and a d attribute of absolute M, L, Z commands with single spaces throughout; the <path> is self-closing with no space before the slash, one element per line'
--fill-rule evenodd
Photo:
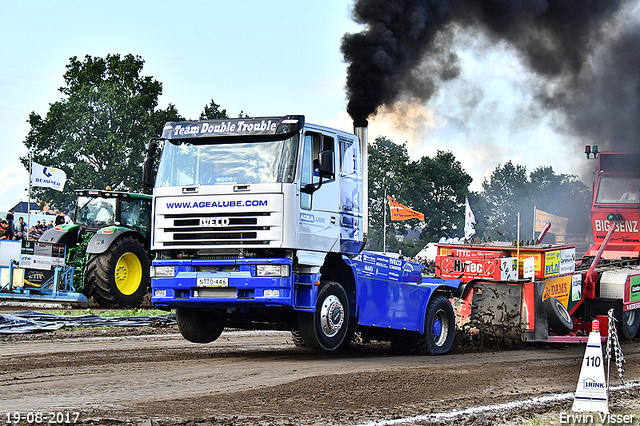
<path fill-rule="evenodd" d="M 211 343 L 224 330 L 220 316 L 211 309 L 176 308 L 176 322 L 182 337 L 192 343 Z"/>

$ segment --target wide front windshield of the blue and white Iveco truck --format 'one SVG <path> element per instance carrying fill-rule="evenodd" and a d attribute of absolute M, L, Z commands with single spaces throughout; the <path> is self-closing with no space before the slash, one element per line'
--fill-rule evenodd
<path fill-rule="evenodd" d="M 166 141 L 156 186 L 292 182 L 297 147 L 298 135 L 209 145 Z"/>

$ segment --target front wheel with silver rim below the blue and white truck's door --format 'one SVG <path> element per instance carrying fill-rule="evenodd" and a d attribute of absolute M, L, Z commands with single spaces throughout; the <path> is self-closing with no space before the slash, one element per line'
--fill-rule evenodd
<path fill-rule="evenodd" d="M 298 326 L 304 343 L 312 349 L 333 351 L 340 347 L 349 329 L 349 302 L 342 286 L 323 281 L 316 312 L 300 312 Z"/>

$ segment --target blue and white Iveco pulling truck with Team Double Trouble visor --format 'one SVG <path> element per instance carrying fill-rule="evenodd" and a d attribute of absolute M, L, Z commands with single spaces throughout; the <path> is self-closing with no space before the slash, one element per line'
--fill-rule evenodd
<path fill-rule="evenodd" d="M 358 331 L 402 352 L 451 349 L 460 281 L 363 250 L 367 128 L 355 131 L 302 115 L 183 121 L 149 143 L 151 300 L 176 310 L 187 340 L 289 330 L 298 346 L 333 351 Z"/>

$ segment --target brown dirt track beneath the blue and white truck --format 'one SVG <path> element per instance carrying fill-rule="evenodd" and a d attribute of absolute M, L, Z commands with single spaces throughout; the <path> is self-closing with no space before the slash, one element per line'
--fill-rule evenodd
<path fill-rule="evenodd" d="M 640 341 L 623 351 L 626 381 L 640 382 Z M 19 411 L 78 412 L 79 424 L 99 425 L 359 425 L 574 392 L 583 355 L 583 345 L 563 345 L 396 356 L 385 344 L 320 354 L 285 332 L 225 331 L 197 345 L 148 327 L 4 336 L 0 421 Z M 613 412 L 637 413 L 640 424 L 640 388 L 610 398 Z M 543 424 L 560 424 L 571 403 L 444 420 L 517 424 L 547 413 Z"/>

